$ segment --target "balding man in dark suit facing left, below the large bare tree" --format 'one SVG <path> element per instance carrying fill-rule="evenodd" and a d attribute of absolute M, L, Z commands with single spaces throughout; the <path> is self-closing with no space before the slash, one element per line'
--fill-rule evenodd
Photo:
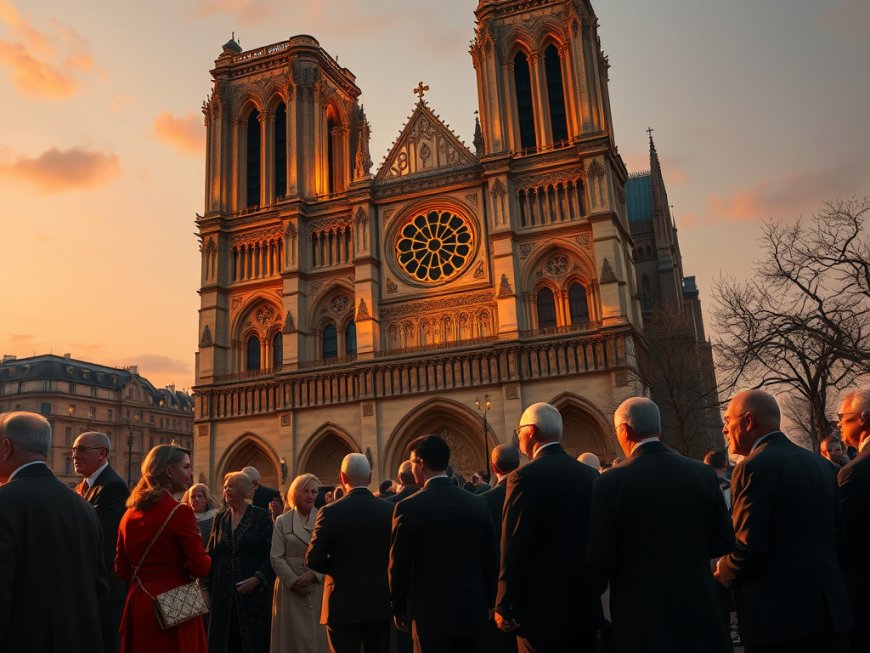
<path fill-rule="evenodd" d="M 731 477 L 736 543 L 716 574 L 733 589 L 747 653 L 844 650 L 852 611 L 830 463 L 785 437 L 776 399 L 761 390 L 735 396 L 724 422 L 732 452 L 745 458 Z"/>

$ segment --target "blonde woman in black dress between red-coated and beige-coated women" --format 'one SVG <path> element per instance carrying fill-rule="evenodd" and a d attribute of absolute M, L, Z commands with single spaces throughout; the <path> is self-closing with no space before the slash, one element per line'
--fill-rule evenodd
<path fill-rule="evenodd" d="M 210 653 L 266 653 L 275 574 L 269 564 L 272 518 L 251 505 L 254 484 L 242 472 L 224 476 L 227 509 L 215 517 L 208 541 Z"/>

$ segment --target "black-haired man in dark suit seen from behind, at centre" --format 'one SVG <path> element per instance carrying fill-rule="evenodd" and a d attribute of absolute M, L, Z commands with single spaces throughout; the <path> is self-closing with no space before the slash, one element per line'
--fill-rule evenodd
<path fill-rule="evenodd" d="M 418 653 L 476 653 L 495 588 L 495 530 L 486 501 L 447 477 L 450 448 L 437 435 L 408 447 L 420 491 L 396 504 L 390 598 Z"/>

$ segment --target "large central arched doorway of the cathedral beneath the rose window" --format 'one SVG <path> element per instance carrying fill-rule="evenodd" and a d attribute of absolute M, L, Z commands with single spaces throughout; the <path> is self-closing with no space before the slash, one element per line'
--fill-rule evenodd
<path fill-rule="evenodd" d="M 450 446 L 450 464 L 466 480 L 487 468 L 488 455 L 483 444 L 480 415 L 459 402 L 437 398 L 427 399 L 408 413 L 396 426 L 384 450 L 382 478 L 395 475 L 399 465 L 408 458 L 408 444 L 421 435 L 437 433 Z M 498 444 L 495 434 L 488 432 L 491 449 Z"/>

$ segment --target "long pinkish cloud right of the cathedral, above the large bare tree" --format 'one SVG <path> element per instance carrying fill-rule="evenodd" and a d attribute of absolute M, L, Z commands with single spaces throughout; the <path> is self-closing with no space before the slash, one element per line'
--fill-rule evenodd
<path fill-rule="evenodd" d="M 706 200 L 706 221 L 797 218 L 811 213 L 825 201 L 852 195 L 865 171 L 866 165 L 852 162 L 829 170 L 762 179 L 726 197 L 712 193 Z"/>

